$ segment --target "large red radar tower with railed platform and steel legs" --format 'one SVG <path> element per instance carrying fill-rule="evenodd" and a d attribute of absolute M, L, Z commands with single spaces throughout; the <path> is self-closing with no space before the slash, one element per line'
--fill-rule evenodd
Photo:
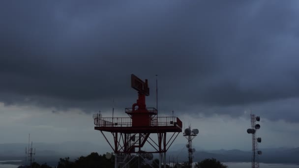
<path fill-rule="evenodd" d="M 131 87 L 138 91 L 138 99 L 132 108 L 125 108 L 129 117 L 102 117 L 97 114 L 94 116 L 94 129 L 102 133 L 113 149 L 115 168 L 128 168 L 128 163 L 134 158 L 131 154 L 142 157 L 144 153 L 158 153 L 159 168 L 161 164 L 166 168 L 166 152 L 182 132 L 182 122 L 174 116 L 157 117 L 157 109 L 146 107 L 148 80 L 144 82 L 132 74 Z M 107 133 L 112 134 L 112 141 L 108 140 Z M 170 138 L 166 137 L 167 133 L 172 134 Z M 153 139 L 150 135 L 157 137 Z M 151 151 L 143 149 L 146 144 L 152 147 Z"/>

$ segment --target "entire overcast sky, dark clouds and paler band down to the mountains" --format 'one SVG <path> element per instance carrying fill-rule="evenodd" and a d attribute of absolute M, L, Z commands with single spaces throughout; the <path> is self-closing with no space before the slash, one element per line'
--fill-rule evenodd
<path fill-rule="evenodd" d="M 147 107 L 200 130 L 205 149 L 299 146 L 297 0 L 2 0 L 0 143 L 104 142 L 92 113 Z M 113 99 L 115 103 L 113 105 Z M 221 140 L 221 141 L 220 141 Z M 184 142 L 179 137 L 177 143 Z"/>

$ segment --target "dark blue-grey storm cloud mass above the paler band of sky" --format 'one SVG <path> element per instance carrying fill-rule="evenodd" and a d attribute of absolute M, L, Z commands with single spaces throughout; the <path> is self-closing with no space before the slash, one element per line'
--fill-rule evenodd
<path fill-rule="evenodd" d="M 299 96 L 297 1 L 1 3 L 6 104 L 91 111 L 116 98 L 123 108 L 136 99 L 131 73 L 151 95 L 159 75 L 166 111 L 236 115 Z"/>

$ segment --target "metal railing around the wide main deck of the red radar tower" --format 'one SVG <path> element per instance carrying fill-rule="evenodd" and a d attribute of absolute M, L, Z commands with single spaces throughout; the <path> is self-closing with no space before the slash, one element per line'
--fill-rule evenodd
<path fill-rule="evenodd" d="M 94 125 L 98 127 L 132 127 L 132 119 L 130 117 L 96 117 Z M 182 122 L 178 117 L 153 117 L 149 126 L 178 126 L 182 128 Z"/>

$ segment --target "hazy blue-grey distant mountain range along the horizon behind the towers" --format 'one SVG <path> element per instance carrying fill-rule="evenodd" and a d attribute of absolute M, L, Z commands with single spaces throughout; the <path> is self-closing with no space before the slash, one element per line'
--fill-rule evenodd
<path fill-rule="evenodd" d="M 0 161 L 2 160 L 25 160 L 26 143 L 0 144 Z M 90 142 L 62 142 L 62 143 L 33 143 L 36 148 L 35 159 L 38 163 L 47 163 L 56 166 L 59 158 L 70 157 L 76 159 L 86 156 L 91 152 L 105 154 L 111 151 L 109 145 L 97 145 Z M 242 150 L 204 150 L 194 146 L 194 162 L 205 158 L 216 158 L 221 162 L 251 162 L 251 151 Z M 260 149 L 263 154 L 259 156 L 262 163 L 299 164 L 299 147 L 297 148 L 268 148 Z M 187 160 L 187 149 L 184 144 L 174 144 L 167 152 L 167 160 Z M 154 155 L 157 158 L 157 155 Z"/>

